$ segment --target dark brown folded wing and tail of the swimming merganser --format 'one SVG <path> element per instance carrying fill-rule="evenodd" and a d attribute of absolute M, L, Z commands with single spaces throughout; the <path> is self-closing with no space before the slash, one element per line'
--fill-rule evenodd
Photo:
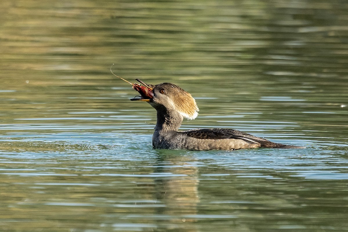
<path fill-rule="evenodd" d="M 296 148 L 296 146 L 292 145 L 273 143 L 267 139 L 256 137 L 243 131 L 225 128 L 187 130 L 181 133 L 197 139 L 242 139 L 247 143 L 260 144 L 261 147 Z"/>

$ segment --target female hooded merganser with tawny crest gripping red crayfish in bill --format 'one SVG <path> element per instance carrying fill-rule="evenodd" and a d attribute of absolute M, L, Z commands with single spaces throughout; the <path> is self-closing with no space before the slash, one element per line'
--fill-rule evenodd
<path fill-rule="evenodd" d="M 154 149 L 201 151 L 258 147 L 303 148 L 270 142 L 232 129 L 215 128 L 178 131 L 183 118 L 193 120 L 198 115 L 199 109 L 191 94 L 172 83 L 161 83 L 154 86 L 139 79 L 136 80 L 143 84 L 143 86 L 132 84 L 141 96 L 130 100 L 148 102 L 157 111 L 157 123 L 155 133 L 152 136 Z"/>

